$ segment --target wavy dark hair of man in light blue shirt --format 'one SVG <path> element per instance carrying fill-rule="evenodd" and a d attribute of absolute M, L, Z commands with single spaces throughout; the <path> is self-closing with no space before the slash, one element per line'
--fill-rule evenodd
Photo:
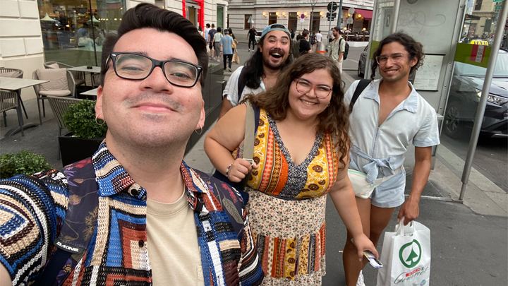
<path fill-rule="evenodd" d="M 423 54 L 423 44 L 421 44 L 421 42 L 416 42 L 413 37 L 407 35 L 404 32 L 395 32 L 392 35 L 388 35 L 385 37 L 385 39 L 381 40 L 379 47 L 377 47 L 374 52 L 374 59 L 376 56 L 380 56 L 382 47 L 385 44 L 389 44 L 391 42 L 398 42 L 404 46 L 406 52 L 409 53 L 409 61 L 412 61 L 414 58 L 418 58 L 418 61 L 414 66 L 411 67 L 411 71 L 409 73 L 413 73 L 423 65 L 423 58 L 425 58 L 425 54 Z M 373 80 L 375 77 L 375 69 L 377 66 L 377 61 L 374 60 L 372 64 L 372 73 L 370 74 L 371 80 Z"/>

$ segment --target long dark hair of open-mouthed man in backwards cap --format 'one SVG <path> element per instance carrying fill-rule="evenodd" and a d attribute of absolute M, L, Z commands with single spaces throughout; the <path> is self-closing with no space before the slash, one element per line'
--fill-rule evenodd
<path fill-rule="evenodd" d="M 261 37 L 258 46 L 260 47 L 263 46 L 267 35 Z M 282 65 L 283 70 L 294 61 L 294 57 L 291 56 L 293 44 L 294 44 L 293 41 L 290 40 L 289 56 L 286 59 L 286 62 L 284 62 L 284 64 Z M 250 59 L 246 61 L 245 66 L 243 66 L 243 71 L 245 71 L 246 85 L 252 89 L 259 88 L 261 85 L 260 78 L 265 74 L 265 70 L 263 69 L 262 52 L 260 52 L 259 49 L 253 54 L 253 56 L 250 57 Z"/>

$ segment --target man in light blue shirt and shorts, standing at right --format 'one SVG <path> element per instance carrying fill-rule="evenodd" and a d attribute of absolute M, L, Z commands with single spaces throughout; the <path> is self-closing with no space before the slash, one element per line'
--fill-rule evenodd
<path fill-rule="evenodd" d="M 382 79 L 367 85 L 349 115 L 349 169 L 365 173 L 370 184 L 386 178 L 370 197 L 356 198 L 363 232 L 375 246 L 399 205 L 398 220 L 404 218 L 405 225 L 418 218 L 421 194 L 430 174 L 432 146 L 440 143 L 435 109 L 408 81 L 409 73 L 423 64 L 423 55 L 423 45 L 409 35 L 398 32 L 383 39 L 374 53 L 371 77 L 373 80 L 379 67 Z M 358 83 L 344 95 L 347 106 Z M 404 201 L 404 155 L 411 143 L 415 146 L 415 167 L 411 193 Z M 367 259 L 358 261 L 349 232 L 343 261 L 347 285 L 364 285 L 361 270 Z"/>

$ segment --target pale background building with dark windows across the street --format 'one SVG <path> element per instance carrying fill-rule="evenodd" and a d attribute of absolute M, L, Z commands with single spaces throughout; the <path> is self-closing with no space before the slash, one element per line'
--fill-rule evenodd
<path fill-rule="evenodd" d="M 228 25 L 236 31 L 236 35 L 241 35 L 240 31 L 247 34 L 251 25 L 255 25 L 256 30 L 260 31 L 267 25 L 279 23 L 295 32 L 304 29 L 313 32 L 320 30 L 326 36 L 329 27 L 334 28 L 339 25 L 337 17 L 331 22 L 327 19 L 329 2 L 328 0 L 229 0 Z M 336 2 L 339 3 L 339 1 Z M 315 5 L 314 8 L 312 4 Z M 339 26 L 353 33 L 369 30 L 373 4 L 374 0 L 344 0 Z M 355 9 L 353 15 L 349 13 L 349 8 Z M 337 8 L 335 13 L 338 13 L 338 10 Z"/>

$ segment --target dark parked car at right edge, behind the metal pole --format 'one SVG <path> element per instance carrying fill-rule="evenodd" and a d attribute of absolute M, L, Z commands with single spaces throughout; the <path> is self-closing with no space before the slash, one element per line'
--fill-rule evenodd
<path fill-rule="evenodd" d="M 456 62 L 443 131 L 449 137 L 466 136 L 478 109 L 487 69 Z M 500 49 L 488 94 L 481 135 L 508 137 L 508 50 Z"/>

